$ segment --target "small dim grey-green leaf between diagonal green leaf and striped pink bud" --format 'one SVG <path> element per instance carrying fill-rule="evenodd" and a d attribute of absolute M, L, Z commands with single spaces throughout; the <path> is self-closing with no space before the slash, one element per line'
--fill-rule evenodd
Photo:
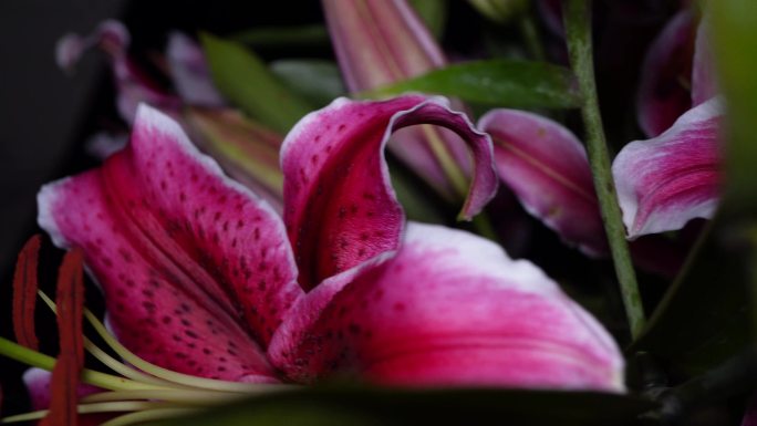
<path fill-rule="evenodd" d="M 279 60 L 271 62 L 271 71 L 289 90 L 319 107 L 346 93 L 339 66 L 332 61 Z"/>

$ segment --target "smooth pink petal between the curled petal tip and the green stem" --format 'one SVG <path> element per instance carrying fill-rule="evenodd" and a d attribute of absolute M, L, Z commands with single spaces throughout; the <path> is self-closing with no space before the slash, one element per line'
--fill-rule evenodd
<path fill-rule="evenodd" d="M 587 153 L 570 131 L 516 110 L 492 110 L 478 128 L 491 135 L 499 177 L 526 210 L 582 251 L 606 253 Z"/>

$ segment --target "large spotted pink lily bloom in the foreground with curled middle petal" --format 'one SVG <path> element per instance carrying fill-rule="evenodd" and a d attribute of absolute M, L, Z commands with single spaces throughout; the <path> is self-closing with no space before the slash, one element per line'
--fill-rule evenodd
<path fill-rule="evenodd" d="M 42 188 L 39 222 L 82 248 L 118 340 L 173 371 L 622 391 L 615 343 L 535 266 L 467 232 L 405 224 L 383 148 L 422 123 L 470 148 L 471 217 L 497 185 L 488 136 L 442 100 L 406 95 L 338 100 L 291 131 L 283 220 L 142 106 L 124 150 Z"/>

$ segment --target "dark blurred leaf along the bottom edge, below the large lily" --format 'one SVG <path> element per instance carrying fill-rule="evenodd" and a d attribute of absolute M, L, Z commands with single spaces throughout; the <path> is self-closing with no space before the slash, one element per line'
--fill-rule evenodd
<path fill-rule="evenodd" d="M 655 406 L 631 396 L 515 389 L 308 387 L 165 425 L 614 425 Z"/>

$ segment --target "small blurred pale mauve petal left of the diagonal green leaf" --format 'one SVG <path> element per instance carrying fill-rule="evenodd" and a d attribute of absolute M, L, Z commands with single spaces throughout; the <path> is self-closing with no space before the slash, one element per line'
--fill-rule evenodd
<path fill-rule="evenodd" d="M 188 35 L 173 32 L 168 37 L 166 59 L 176 91 L 185 103 L 208 107 L 226 105 L 212 83 L 203 50 Z"/>

